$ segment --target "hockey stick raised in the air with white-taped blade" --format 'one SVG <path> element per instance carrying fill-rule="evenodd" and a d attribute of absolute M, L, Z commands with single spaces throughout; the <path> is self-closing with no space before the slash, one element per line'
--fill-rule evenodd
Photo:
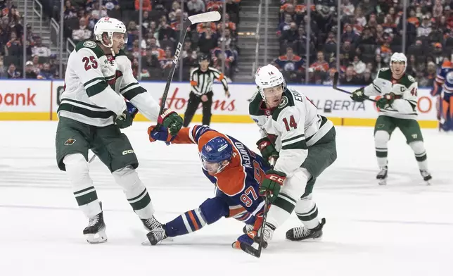
<path fill-rule="evenodd" d="M 202 22 L 210 22 L 210 21 L 218 21 L 218 20 L 220 20 L 220 13 L 218 11 L 210 11 L 208 13 L 200 13 L 197 15 L 191 15 L 184 22 L 184 24 L 181 28 L 181 37 L 179 37 L 179 42 L 177 44 L 176 51 L 174 51 L 172 70 L 170 70 L 170 74 L 168 74 L 167 84 L 165 85 L 165 90 L 164 90 L 164 93 L 162 94 L 162 99 L 160 101 L 159 115 L 162 115 L 162 113 L 164 112 L 165 102 L 167 101 L 168 91 L 170 90 L 170 84 L 172 83 L 172 80 L 173 80 L 174 70 L 176 70 L 176 66 L 179 61 L 179 54 L 181 53 L 182 44 L 184 43 L 184 39 L 186 38 L 187 28 L 193 24 L 198 24 L 198 23 L 202 23 Z M 160 127 L 159 124 L 156 125 L 157 129 L 159 127 Z"/>

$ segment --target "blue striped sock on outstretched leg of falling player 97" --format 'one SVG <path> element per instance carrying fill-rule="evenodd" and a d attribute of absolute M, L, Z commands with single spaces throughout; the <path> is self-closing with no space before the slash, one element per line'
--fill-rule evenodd
<path fill-rule="evenodd" d="M 187 211 L 165 224 L 167 237 L 176 237 L 200 230 L 222 217 L 229 215 L 229 207 L 223 199 L 215 197 L 207 199 L 199 208 Z"/>

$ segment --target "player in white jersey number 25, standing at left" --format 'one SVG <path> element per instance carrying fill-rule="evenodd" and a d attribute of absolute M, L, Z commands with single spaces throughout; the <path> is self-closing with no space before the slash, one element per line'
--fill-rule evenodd
<path fill-rule="evenodd" d="M 89 218 L 83 234 L 87 242 L 106 242 L 101 203 L 89 176 L 88 150 L 112 172 L 134 212 L 148 230 L 161 227 L 154 218 L 153 204 L 139 179 L 139 165 L 132 146 L 120 128 L 132 125 L 138 110 L 175 135 L 182 118 L 160 106 L 132 75 L 131 63 L 122 46 L 126 27 L 114 18 L 101 18 L 94 26 L 95 39 L 75 46 L 68 58 L 65 90 L 58 108 L 56 158 L 65 170 L 79 208 Z M 127 99 L 126 102 L 125 99 Z"/>

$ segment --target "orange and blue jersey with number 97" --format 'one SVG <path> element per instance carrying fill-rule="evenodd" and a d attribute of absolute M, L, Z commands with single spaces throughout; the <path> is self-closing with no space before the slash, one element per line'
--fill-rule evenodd
<path fill-rule="evenodd" d="M 250 151 L 247 146 L 228 135 L 212 130 L 206 125 L 182 128 L 172 144 L 197 144 L 198 154 L 203 146 L 215 137 L 224 137 L 233 146 L 233 155 L 229 165 L 217 175 L 206 177 L 217 187 L 216 196 L 221 196 L 229 205 L 229 217 L 248 220 L 264 207 L 264 198 L 258 194 L 264 171 L 270 167 L 261 156 Z"/>

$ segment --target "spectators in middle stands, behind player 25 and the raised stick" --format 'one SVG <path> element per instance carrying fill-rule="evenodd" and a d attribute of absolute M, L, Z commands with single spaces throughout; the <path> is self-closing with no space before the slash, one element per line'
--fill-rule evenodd
<path fill-rule="evenodd" d="M 92 37 L 98 18 L 110 16 L 119 18 L 127 27 L 125 51 L 132 61 L 134 75 L 141 80 L 165 80 L 171 67 L 174 49 L 179 39 L 181 17 L 187 18 L 206 11 L 222 13 L 223 1 L 186 0 L 181 1 L 143 0 L 143 24 L 139 25 L 139 0 L 98 0 L 65 1 L 65 36 L 73 42 Z M 240 0 L 227 0 L 225 20 L 225 54 L 222 54 L 222 23 L 200 23 L 191 27 L 184 41 L 183 80 L 189 80 L 189 71 L 198 66 L 200 53 L 211 56 L 211 66 L 222 69 L 225 61 L 225 75 L 232 78 L 237 71 L 238 48 L 236 46 L 239 23 Z M 139 41 L 139 32 L 143 39 Z M 139 56 L 141 71 L 139 72 Z"/>

